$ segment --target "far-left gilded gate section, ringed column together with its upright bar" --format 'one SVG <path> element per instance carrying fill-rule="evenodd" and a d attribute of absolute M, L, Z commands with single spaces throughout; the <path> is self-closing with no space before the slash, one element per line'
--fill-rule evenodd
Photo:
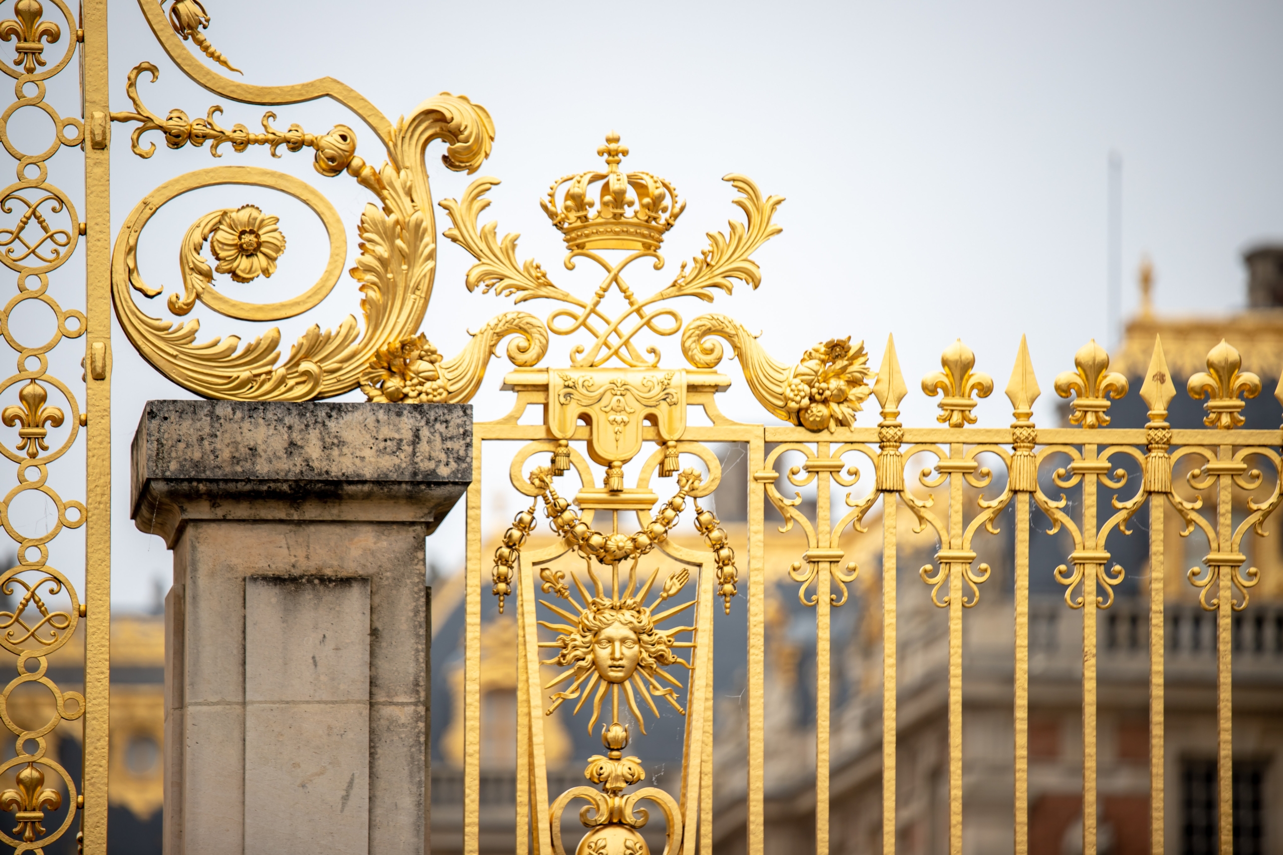
<path fill-rule="evenodd" d="M 0 828 L 0 841 L 18 852 L 38 851 L 80 833 L 90 851 L 104 851 L 110 638 L 106 6 L 90 0 L 77 14 L 63 0 L 17 0 L 9 14 L 0 21 L 0 40 L 14 42 L 14 58 L 3 64 L 14 81 L 14 100 L 0 118 L 0 140 L 15 162 L 15 177 L 0 192 L 0 260 L 15 274 L 17 287 L 0 309 L 0 329 L 17 359 L 0 386 L 13 401 L 0 411 L 10 429 L 0 447 L 17 469 L 17 485 L 0 506 L 0 520 L 15 544 L 13 565 L 0 574 L 0 645 L 15 656 L 17 673 L 0 692 L 0 720 L 13 740 L 0 764 L 13 786 L 0 792 L 0 809 L 12 811 L 14 820 Z M 46 100 L 50 81 L 74 74 L 77 59 L 81 104 Z M 54 131 L 47 147 L 38 147 L 40 141 L 35 150 L 24 149 L 33 135 L 30 124 L 13 122 L 22 108 L 30 108 L 27 115 L 38 110 L 47 117 Z M 49 162 L 64 146 L 85 151 L 80 210 L 80 194 L 50 179 Z M 86 277 L 80 295 L 78 277 L 65 265 L 82 242 Z M 67 372 L 74 365 L 67 350 L 76 345 L 65 340 L 76 338 L 83 341 L 83 386 Z M 83 486 L 77 485 L 73 449 L 86 455 Z M 68 487 L 83 500 L 65 495 Z M 54 510 L 44 532 L 19 513 L 32 500 Z M 50 560 L 50 545 L 64 529 L 81 526 L 85 583 L 77 590 L 77 574 L 58 567 L 68 561 L 67 552 Z M 49 656 L 82 638 L 83 692 L 59 686 L 47 673 Z M 44 701 L 36 714 L 24 702 L 33 696 Z M 83 770 L 65 768 L 49 740 L 63 720 L 77 719 L 83 723 Z"/>

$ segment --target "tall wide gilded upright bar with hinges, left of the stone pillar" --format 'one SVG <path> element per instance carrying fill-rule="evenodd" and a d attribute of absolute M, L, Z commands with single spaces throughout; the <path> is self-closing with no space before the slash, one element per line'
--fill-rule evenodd
<path fill-rule="evenodd" d="M 85 59 L 85 119 L 105 123 L 110 133 L 106 65 L 106 0 L 85 0 L 81 27 Z M 74 33 L 68 33 L 74 38 Z M 101 117 L 101 118 L 100 118 Z M 86 133 L 86 137 L 90 135 Z M 87 431 L 85 533 L 85 813 L 83 851 L 106 852 L 106 776 L 109 756 L 112 649 L 112 213 L 109 136 L 98 147 L 85 145 L 85 291 L 87 331 L 85 364 L 104 350 L 101 378 L 86 370 Z"/>

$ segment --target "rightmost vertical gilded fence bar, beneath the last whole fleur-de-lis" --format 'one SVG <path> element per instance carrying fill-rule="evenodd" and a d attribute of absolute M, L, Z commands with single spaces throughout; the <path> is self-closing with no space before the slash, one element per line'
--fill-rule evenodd
<path fill-rule="evenodd" d="M 1220 446 L 1220 460 L 1233 460 L 1234 447 Z M 1233 540 L 1233 485 L 1232 474 L 1221 474 L 1216 497 L 1218 551 L 1230 551 Z M 1216 574 L 1216 783 L 1219 790 L 1218 819 L 1220 827 L 1220 855 L 1234 855 L 1234 741 L 1230 732 L 1232 679 L 1230 664 L 1233 638 L 1230 635 L 1234 604 L 1232 579 L 1237 568 L 1221 564 Z"/>

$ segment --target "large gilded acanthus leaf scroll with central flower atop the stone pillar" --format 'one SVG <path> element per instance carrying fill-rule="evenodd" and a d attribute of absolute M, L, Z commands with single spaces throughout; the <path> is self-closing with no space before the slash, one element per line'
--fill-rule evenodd
<path fill-rule="evenodd" d="M 183 6 L 185 3 L 191 8 Z M 199 23 L 200 15 L 204 15 L 204 9 L 198 8 L 199 4 L 194 4 L 194 0 L 176 1 L 172 9 L 176 32 L 185 37 L 196 33 L 191 22 Z M 448 144 L 443 156 L 448 168 L 475 172 L 489 155 L 494 137 L 494 124 L 485 108 L 449 94 L 423 101 L 409 119 L 400 119 L 395 126 L 386 124 L 387 135 L 381 142 L 387 150 L 389 160 L 376 170 L 357 156 L 355 133 L 341 124 L 327 135 L 307 133 L 298 124 L 281 132 L 272 127 L 271 120 L 276 115 L 269 112 L 263 117 L 263 133 L 251 133 L 241 124 L 227 131 L 214 120 L 221 110 L 217 106 L 210 108 L 205 119 L 189 120 L 182 110 L 171 110 L 166 119 L 160 119 L 142 105 L 137 95 L 137 77 L 144 72 L 150 73 L 153 79 L 158 73 L 150 63 L 130 72 L 128 95 L 135 110 L 112 114 L 113 120 L 139 123 L 131 142 L 139 156 L 149 158 L 155 151 L 154 144 L 146 149 L 140 144 L 141 135 L 150 129 L 163 132 L 171 149 L 182 147 L 187 142 L 200 146 L 209 141 L 214 156 L 221 156 L 218 146 L 222 144 L 230 145 L 235 151 L 263 145 L 273 156 L 280 156 L 278 147 L 291 153 L 307 147 L 316 153 L 314 167 L 319 174 L 336 177 L 346 172 L 373 192 L 380 204 L 367 205 L 361 217 L 361 253 L 350 270 L 363 295 L 363 328 L 350 315 L 332 331 L 321 331 L 313 326 L 294 345 L 286 360 L 280 363 L 277 328 L 244 347 L 240 347 L 240 338 L 236 336 L 196 344 L 199 320 L 171 324 L 144 314 L 130 297 L 127 286 L 146 297 L 159 295 L 160 288 L 151 288 L 142 281 L 137 263 L 139 235 L 160 206 L 201 187 L 237 183 L 271 187 L 294 195 L 321 218 L 330 237 L 330 261 L 314 286 L 296 297 L 268 304 L 232 300 L 210 287 L 212 270 L 200 256 L 205 241 L 209 241 L 210 253 L 218 261 L 218 272 L 231 273 L 239 281 L 258 274 L 269 276 L 275 270 L 277 256 L 284 251 L 284 240 L 276 240 L 264 229 L 237 227 L 237 235 L 226 240 L 221 237 L 223 231 L 237 224 L 228 223 L 230 219 L 249 219 L 242 206 L 212 212 L 191 226 L 183 241 L 185 292 L 181 296 L 171 295 L 168 300 L 168 308 L 176 315 L 187 314 L 200 301 L 235 319 L 277 320 L 313 308 L 335 287 L 346 254 L 337 214 L 309 185 L 257 167 L 207 169 L 162 185 L 127 218 L 113 258 L 113 297 L 117 315 L 131 344 L 167 377 L 205 397 L 309 400 L 341 395 L 362 382 L 368 390 L 373 390 L 382 379 L 378 372 L 386 373 L 390 351 L 416 338 L 431 297 L 436 241 L 431 192 L 423 163 L 425 150 L 434 140 L 441 140 Z M 368 117 L 363 118 L 368 120 Z M 267 223 L 267 218 L 263 218 L 263 223 Z M 275 223 L 271 226 L 275 227 Z M 258 233 L 248 237 L 249 231 Z M 531 324 L 530 315 L 509 313 L 504 322 L 489 324 L 480 341 L 475 340 L 463 354 L 443 367 L 441 370 L 450 374 L 448 385 L 455 392 L 444 396 L 432 392 L 422 396 L 422 400 L 461 400 L 464 391 L 471 396 L 480 377 L 461 376 L 461 370 L 484 373 L 486 358 L 493 354 L 497 344 L 493 333 L 500 327 L 508 331 L 500 333 L 500 337 L 511 332 L 522 338 L 520 344 L 514 342 L 516 347 L 508 349 L 517 364 L 534 364 L 543 356 L 547 331 L 540 324 Z M 479 355 L 485 358 L 479 359 Z"/>

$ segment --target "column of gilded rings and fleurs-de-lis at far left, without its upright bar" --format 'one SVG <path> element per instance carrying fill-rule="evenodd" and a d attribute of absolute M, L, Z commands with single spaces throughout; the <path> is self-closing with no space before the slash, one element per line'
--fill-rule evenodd
<path fill-rule="evenodd" d="M 15 355 L 14 373 L 0 381 L 0 392 L 15 401 L 0 410 L 0 454 L 14 464 L 17 481 L 0 501 L 0 524 L 15 545 L 14 565 L 0 572 L 5 597 L 0 647 L 15 665 L 0 688 L 0 723 L 12 740 L 0 764 L 0 776 L 12 781 L 0 791 L 0 811 L 13 819 L 0 828 L 0 842 L 24 852 L 72 833 L 83 805 L 81 769 L 64 768 L 46 737 L 86 711 L 85 693 L 67 691 L 49 676 L 49 656 L 72 641 L 86 614 L 82 592 L 50 561 L 51 547 L 59 535 L 87 518 L 83 501 L 63 495 L 67 464 L 60 463 L 83 445 L 83 388 L 50 373 L 50 361 L 59 345 L 86 333 L 87 318 L 83 310 L 63 305 L 67 288 L 59 287 L 59 278 L 65 273 L 59 269 L 74 256 L 83 224 L 72 196 L 50 181 L 47 163 L 59 150 L 85 142 L 85 123 L 60 115 L 45 100 L 46 82 L 77 53 L 77 18 L 62 0 L 18 0 L 13 15 L 0 21 L 0 40 L 14 42 L 15 51 L 0 65 L 15 82 L 15 97 L 0 114 L 0 142 L 17 173 L 0 191 L 0 263 L 15 274 L 17 286 L 0 309 L 0 333 Z M 10 120 L 22 108 L 35 108 L 51 120 L 54 133 L 44 150 L 19 146 Z M 44 324 L 27 320 L 33 313 L 53 319 L 51 335 L 36 332 Z M 17 513 L 32 499 L 54 510 L 44 531 Z M 47 701 L 38 720 L 12 706 L 28 696 Z"/>

